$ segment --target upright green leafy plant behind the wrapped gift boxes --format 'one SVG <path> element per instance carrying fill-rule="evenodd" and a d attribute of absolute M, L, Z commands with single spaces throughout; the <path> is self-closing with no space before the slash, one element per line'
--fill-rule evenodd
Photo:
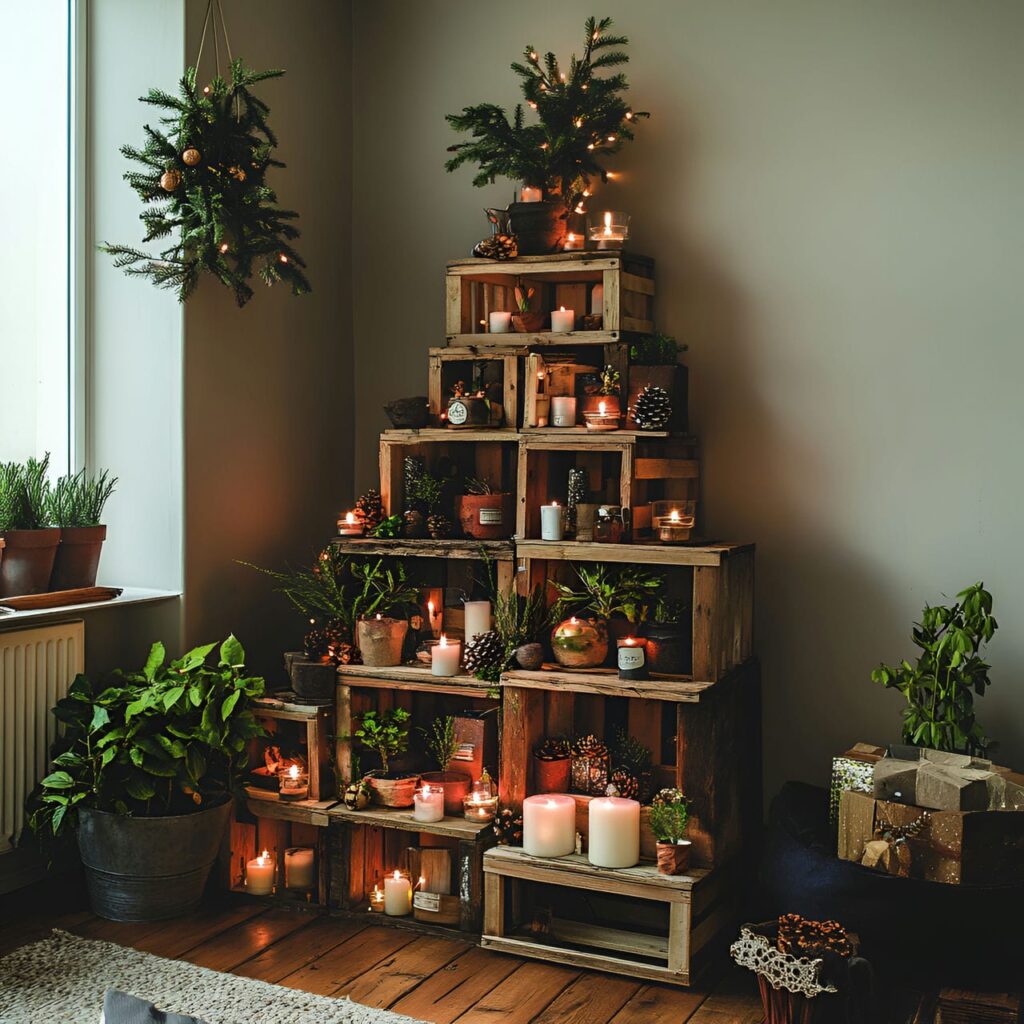
<path fill-rule="evenodd" d="M 903 739 L 939 751 L 984 754 L 994 745 L 975 720 L 974 697 L 984 696 L 990 666 L 982 647 L 997 629 L 992 595 L 983 583 L 961 591 L 951 605 L 926 605 L 913 627 L 916 666 L 880 665 L 871 679 L 906 698 Z"/>

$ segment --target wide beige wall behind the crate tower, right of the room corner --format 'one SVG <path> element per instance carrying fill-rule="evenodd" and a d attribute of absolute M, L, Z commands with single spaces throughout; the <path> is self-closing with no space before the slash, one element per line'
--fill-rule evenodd
<path fill-rule="evenodd" d="M 592 4 L 398 0 L 354 11 L 356 486 L 382 403 L 423 392 L 442 268 L 485 233 L 443 116 L 511 103 L 526 43 L 579 48 Z M 982 718 L 1024 763 L 1020 542 L 1024 6 L 607 0 L 653 113 L 599 202 L 657 260 L 690 344 L 705 521 L 759 544 L 766 793 L 895 736 L 879 658 L 983 578 L 1004 629 Z"/>

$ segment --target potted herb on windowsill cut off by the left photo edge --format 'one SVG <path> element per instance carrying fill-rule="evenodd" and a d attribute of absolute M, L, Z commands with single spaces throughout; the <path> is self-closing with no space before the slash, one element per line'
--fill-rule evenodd
<path fill-rule="evenodd" d="M 50 519 L 49 454 L 0 463 L 0 597 L 49 590 L 60 529 Z"/>

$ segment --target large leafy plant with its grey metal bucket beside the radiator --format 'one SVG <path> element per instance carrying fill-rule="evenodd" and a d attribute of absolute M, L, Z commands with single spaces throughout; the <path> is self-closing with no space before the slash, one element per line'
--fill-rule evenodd
<path fill-rule="evenodd" d="M 262 731 L 251 700 L 263 680 L 245 674 L 234 637 L 215 650 L 167 664 L 156 643 L 141 671 L 79 676 L 53 709 L 59 753 L 30 820 L 41 837 L 77 833 L 100 916 L 160 921 L 200 903 Z"/>

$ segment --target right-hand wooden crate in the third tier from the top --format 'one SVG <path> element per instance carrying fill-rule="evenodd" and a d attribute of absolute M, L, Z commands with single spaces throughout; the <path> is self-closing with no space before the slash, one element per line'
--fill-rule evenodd
<path fill-rule="evenodd" d="M 637 529 L 649 526 L 657 499 L 696 499 L 700 464 L 693 438 L 652 431 L 595 433 L 586 427 L 537 429 L 519 437 L 516 538 L 538 541 L 541 506 L 564 505 L 568 471 L 587 471 L 589 500 L 634 511 Z M 644 517 L 646 514 L 646 518 Z"/>

